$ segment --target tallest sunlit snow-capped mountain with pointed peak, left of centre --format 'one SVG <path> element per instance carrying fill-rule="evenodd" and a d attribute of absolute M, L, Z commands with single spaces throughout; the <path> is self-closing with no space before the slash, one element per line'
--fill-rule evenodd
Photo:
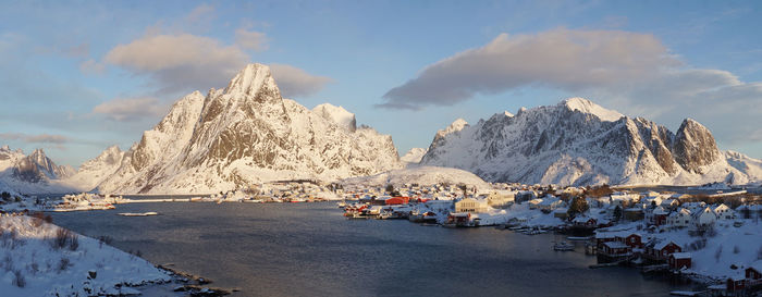
<path fill-rule="evenodd" d="M 123 157 L 101 193 L 217 193 L 267 181 L 336 180 L 402 168 L 392 137 L 341 107 L 284 99 L 261 64 L 196 91 Z"/>

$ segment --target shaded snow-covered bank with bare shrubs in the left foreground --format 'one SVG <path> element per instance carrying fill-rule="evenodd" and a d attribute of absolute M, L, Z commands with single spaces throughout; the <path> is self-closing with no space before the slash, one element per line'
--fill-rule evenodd
<path fill-rule="evenodd" d="M 2 296 L 135 294 L 130 286 L 172 280 L 139 257 L 37 218 L 3 214 L 0 231 Z"/>

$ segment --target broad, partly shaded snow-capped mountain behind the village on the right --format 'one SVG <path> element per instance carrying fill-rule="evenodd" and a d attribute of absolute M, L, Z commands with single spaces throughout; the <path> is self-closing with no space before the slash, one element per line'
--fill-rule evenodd
<path fill-rule="evenodd" d="M 501 112 L 475 125 L 458 119 L 434 135 L 420 164 L 527 184 L 745 184 L 762 178 L 753 159 L 738 159 L 743 161 L 728 161 L 709 129 L 693 120 L 672 133 L 570 98 L 523 108 L 516 115 Z"/>

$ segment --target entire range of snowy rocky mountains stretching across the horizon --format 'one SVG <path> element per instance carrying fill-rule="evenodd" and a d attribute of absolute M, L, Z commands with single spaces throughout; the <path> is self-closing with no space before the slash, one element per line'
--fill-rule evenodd
<path fill-rule="evenodd" d="M 0 148 L 0 190 L 209 194 L 302 178 L 476 177 L 448 169 L 437 174 L 437 166 L 525 184 L 762 181 L 762 161 L 720 151 L 710 131 L 693 120 L 673 133 L 582 98 L 515 115 L 500 112 L 474 125 L 458 119 L 437 132 L 428 149 L 398 158 L 391 136 L 357 126 L 355 114 L 342 107 L 309 110 L 282 98 L 269 67 L 249 64 L 225 88 L 180 99 L 130 150 L 107 148 L 76 172 L 56 165 L 41 149 L 25 156 Z"/>

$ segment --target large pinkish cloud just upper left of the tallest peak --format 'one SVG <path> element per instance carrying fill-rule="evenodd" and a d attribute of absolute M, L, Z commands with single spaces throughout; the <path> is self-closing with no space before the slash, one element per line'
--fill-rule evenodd
<path fill-rule="evenodd" d="M 190 34 L 144 36 L 114 47 L 105 61 L 157 79 L 162 91 L 224 85 L 247 62 L 237 47 Z"/>

